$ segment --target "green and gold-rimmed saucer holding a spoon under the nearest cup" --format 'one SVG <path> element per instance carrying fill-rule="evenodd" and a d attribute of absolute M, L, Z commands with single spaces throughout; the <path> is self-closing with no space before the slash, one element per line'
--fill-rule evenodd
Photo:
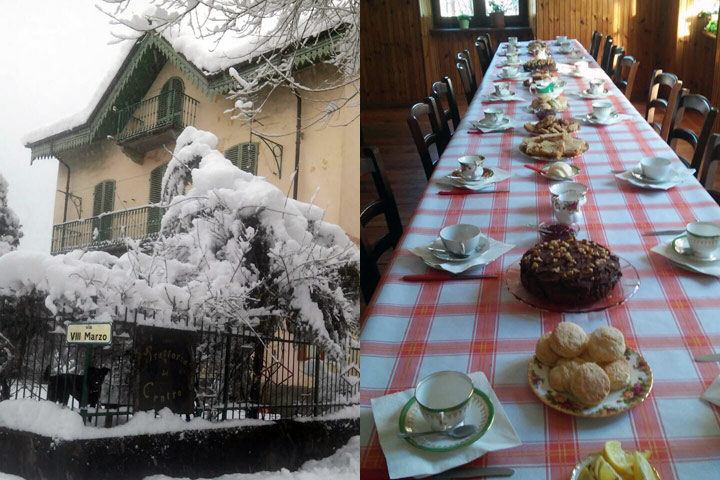
<path fill-rule="evenodd" d="M 431 452 L 449 452 L 458 448 L 466 447 L 477 442 L 492 426 L 495 419 L 495 407 L 488 396 L 474 389 L 473 396 L 470 397 L 470 406 L 465 413 L 465 425 L 477 425 L 479 430 L 475 435 L 466 438 L 453 438 L 447 435 L 426 435 L 424 437 L 406 438 L 410 445 L 421 450 L 429 450 Z M 412 397 L 400 412 L 400 432 L 426 432 L 430 430 L 425 418 L 420 413 L 420 407 Z"/>

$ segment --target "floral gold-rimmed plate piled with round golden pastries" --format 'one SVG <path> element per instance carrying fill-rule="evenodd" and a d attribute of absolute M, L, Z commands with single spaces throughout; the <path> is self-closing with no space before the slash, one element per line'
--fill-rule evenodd
<path fill-rule="evenodd" d="M 653 375 L 623 333 L 603 326 L 587 334 L 560 322 L 540 337 L 528 365 L 533 393 L 550 408 L 579 417 L 610 417 L 641 404 Z"/>

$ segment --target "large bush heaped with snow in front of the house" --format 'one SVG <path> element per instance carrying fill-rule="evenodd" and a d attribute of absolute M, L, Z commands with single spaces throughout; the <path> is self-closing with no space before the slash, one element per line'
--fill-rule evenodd
<path fill-rule="evenodd" d="M 128 242 L 120 258 L 11 252 L 0 257 L 0 295 L 40 294 L 52 312 L 93 318 L 145 308 L 155 324 L 181 316 L 272 332 L 282 322 L 342 357 L 359 319 L 357 247 L 322 209 L 235 167 L 216 144 L 194 127 L 177 139 L 158 240 Z"/>

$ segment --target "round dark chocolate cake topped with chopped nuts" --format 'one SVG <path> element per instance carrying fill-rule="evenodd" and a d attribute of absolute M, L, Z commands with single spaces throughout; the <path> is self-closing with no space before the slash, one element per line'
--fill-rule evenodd
<path fill-rule="evenodd" d="M 520 261 L 523 287 L 563 305 L 596 302 L 610 293 L 621 276 L 618 257 L 589 240 L 538 243 Z"/>

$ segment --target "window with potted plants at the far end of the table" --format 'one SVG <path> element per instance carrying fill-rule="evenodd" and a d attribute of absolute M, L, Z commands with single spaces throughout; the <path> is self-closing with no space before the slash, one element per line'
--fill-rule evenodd
<path fill-rule="evenodd" d="M 472 17 L 470 26 L 490 28 L 490 13 L 493 4 L 505 12 L 505 25 L 528 25 L 528 0 L 432 0 L 435 26 L 441 28 L 459 27 L 457 16 L 467 14 Z"/>

